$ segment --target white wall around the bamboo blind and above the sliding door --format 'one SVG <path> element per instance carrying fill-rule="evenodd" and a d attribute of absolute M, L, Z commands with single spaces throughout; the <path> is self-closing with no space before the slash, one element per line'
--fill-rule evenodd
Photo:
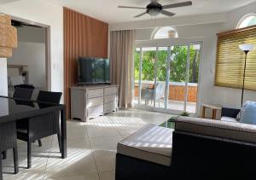
<path fill-rule="evenodd" d="M 165 26 L 173 26 L 172 23 L 168 24 L 168 21 L 175 22 L 174 26 L 177 29 L 179 37 L 189 38 L 189 37 L 202 37 L 203 38 L 203 58 L 201 60 L 201 102 L 205 103 L 215 103 L 221 104 L 224 107 L 240 107 L 241 106 L 241 90 L 216 87 L 214 86 L 214 73 L 215 73 L 215 58 L 216 58 L 216 47 L 217 47 L 217 36 L 218 32 L 224 32 L 228 30 L 233 30 L 236 28 L 237 23 L 244 15 L 256 13 L 256 3 L 251 3 L 240 9 L 233 10 L 231 12 L 225 13 L 226 20 L 212 20 L 209 19 L 208 22 L 204 22 L 203 19 L 193 20 L 193 24 L 179 25 L 178 18 L 175 20 L 160 20 L 160 24 Z M 209 18 L 208 15 L 204 15 L 205 18 Z M 187 17 L 186 21 L 189 21 L 190 17 Z M 184 21 L 185 22 L 185 21 Z M 202 23 L 204 22 L 204 23 Z M 128 23 L 129 24 L 129 23 Z M 137 23 L 130 23 L 129 26 L 135 27 L 137 32 L 137 40 L 148 40 L 151 37 L 154 28 L 150 27 L 148 22 L 145 21 L 145 28 L 142 29 Z M 146 26 L 147 24 L 147 26 Z M 138 27 L 138 28 L 137 28 Z M 112 30 L 122 30 L 129 28 L 126 25 L 115 24 L 111 25 Z M 246 90 L 244 101 L 251 100 L 256 101 L 256 92 Z M 219 114 L 218 114 L 219 115 Z"/>

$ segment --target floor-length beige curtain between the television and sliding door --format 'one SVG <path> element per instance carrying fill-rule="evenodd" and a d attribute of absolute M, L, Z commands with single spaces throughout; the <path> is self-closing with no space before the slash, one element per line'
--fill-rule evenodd
<path fill-rule="evenodd" d="M 112 84 L 119 84 L 121 108 L 131 107 L 134 43 L 133 30 L 110 32 L 110 78 Z"/>

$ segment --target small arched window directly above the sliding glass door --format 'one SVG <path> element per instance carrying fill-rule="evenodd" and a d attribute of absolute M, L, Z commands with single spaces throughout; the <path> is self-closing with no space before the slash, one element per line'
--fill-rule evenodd
<path fill-rule="evenodd" d="M 157 28 L 152 35 L 152 39 L 178 38 L 177 31 L 170 26 Z"/>

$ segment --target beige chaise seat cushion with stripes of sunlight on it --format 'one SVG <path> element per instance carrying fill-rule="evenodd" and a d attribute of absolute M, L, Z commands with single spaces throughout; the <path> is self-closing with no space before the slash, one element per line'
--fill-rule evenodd
<path fill-rule="evenodd" d="M 172 129 L 145 125 L 118 143 L 117 152 L 160 165 L 171 165 Z"/>

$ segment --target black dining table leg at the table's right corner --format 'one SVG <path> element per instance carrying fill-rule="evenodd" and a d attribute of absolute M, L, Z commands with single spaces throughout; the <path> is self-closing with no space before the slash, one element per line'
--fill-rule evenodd
<path fill-rule="evenodd" d="M 67 158 L 67 120 L 66 107 L 61 109 L 61 158 Z"/>

